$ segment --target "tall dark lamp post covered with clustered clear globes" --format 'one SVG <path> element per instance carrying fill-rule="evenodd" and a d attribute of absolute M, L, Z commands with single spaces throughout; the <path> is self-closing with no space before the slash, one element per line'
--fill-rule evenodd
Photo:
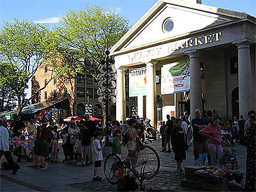
<path fill-rule="evenodd" d="M 115 80 L 117 79 L 116 70 L 114 67 L 114 58 L 111 58 L 110 51 L 105 52 L 106 58 L 101 60 L 99 65 L 99 74 L 97 79 L 99 80 L 97 94 L 99 95 L 98 101 L 105 105 L 105 127 L 108 129 L 109 114 L 108 108 L 109 103 L 115 103 Z"/>

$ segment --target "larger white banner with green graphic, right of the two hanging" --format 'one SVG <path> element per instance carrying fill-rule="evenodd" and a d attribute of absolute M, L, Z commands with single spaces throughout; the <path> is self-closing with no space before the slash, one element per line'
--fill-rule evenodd
<path fill-rule="evenodd" d="M 188 92 L 190 90 L 189 60 L 165 64 L 161 68 L 161 94 Z"/>

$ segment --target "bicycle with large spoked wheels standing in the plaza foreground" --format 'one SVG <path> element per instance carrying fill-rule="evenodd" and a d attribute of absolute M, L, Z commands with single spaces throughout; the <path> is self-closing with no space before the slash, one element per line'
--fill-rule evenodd
<path fill-rule="evenodd" d="M 110 154 L 104 162 L 104 174 L 111 184 L 117 184 L 120 178 L 120 172 L 123 176 L 130 175 L 130 172 L 140 182 L 140 188 L 145 191 L 145 180 L 151 179 L 157 175 L 160 169 L 160 158 L 154 148 L 144 145 L 139 137 L 137 137 L 138 147 L 134 150 L 130 160 L 129 157 L 123 161 L 119 156 Z M 136 153 L 138 152 L 138 158 Z"/>

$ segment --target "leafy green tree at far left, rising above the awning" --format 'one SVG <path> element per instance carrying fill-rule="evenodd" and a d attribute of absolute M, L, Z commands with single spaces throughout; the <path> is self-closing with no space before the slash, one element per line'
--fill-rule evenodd
<path fill-rule="evenodd" d="M 17 115 L 33 96 L 45 88 L 40 87 L 30 98 L 24 92 L 43 61 L 52 69 L 48 83 L 55 76 L 70 71 L 68 65 L 59 64 L 58 41 L 47 27 L 27 20 L 6 22 L 0 33 L 0 86 L 7 85 L 17 97 Z"/>

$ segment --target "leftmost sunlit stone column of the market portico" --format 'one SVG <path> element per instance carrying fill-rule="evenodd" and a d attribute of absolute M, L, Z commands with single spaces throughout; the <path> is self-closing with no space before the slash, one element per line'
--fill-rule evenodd
<path fill-rule="evenodd" d="M 116 119 L 117 121 L 124 121 L 126 119 L 126 89 L 124 80 L 124 70 L 117 69 L 117 102 L 116 108 Z"/>

